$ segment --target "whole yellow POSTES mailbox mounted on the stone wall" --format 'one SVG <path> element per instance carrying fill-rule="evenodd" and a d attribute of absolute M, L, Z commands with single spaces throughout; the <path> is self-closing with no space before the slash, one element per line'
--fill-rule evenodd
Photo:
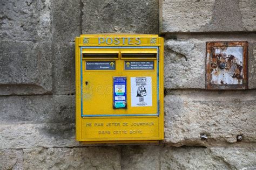
<path fill-rule="evenodd" d="M 147 34 L 76 38 L 76 139 L 164 139 L 164 39 Z"/>

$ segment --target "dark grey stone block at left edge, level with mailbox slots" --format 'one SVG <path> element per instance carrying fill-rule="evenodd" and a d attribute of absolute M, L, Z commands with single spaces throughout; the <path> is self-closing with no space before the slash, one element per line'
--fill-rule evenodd
<path fill-rule="evenodd" d="M 51 93 L 52 51 L 49 42 L 0 41 L 0 46 L 1 95 Z"/>

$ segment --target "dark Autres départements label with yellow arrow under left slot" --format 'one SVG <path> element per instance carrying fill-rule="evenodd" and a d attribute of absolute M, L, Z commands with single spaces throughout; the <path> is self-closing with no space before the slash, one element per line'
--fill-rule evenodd
<path fill-rule="evenodd" d="M 116 61 L 86 61 L 86 70 L 114 70 Z"/>

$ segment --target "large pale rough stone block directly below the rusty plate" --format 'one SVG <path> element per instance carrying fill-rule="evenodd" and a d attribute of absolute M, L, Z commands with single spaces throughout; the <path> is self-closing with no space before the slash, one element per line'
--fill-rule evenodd
<path fill-rule="evenodd" d="M 253 144 L 256 91 L 169 91 L 165 143 L 174 146 Z M 207 139 L 201 139 L 206 134 Z M 242 141 L 237 142 L 237 136 Z"/>

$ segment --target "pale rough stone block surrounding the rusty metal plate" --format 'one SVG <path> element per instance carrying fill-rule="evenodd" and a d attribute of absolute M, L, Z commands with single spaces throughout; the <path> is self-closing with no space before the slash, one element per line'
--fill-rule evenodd
<path fill-rule="evenodd" d="M 168 39 L 169 38 L 169 39 Z M 256 34 L 167 34 L 164 54 L 166 89 L 205 89 L 206 42 L 248 41 L 248 88 L 256 88 Z"/>

